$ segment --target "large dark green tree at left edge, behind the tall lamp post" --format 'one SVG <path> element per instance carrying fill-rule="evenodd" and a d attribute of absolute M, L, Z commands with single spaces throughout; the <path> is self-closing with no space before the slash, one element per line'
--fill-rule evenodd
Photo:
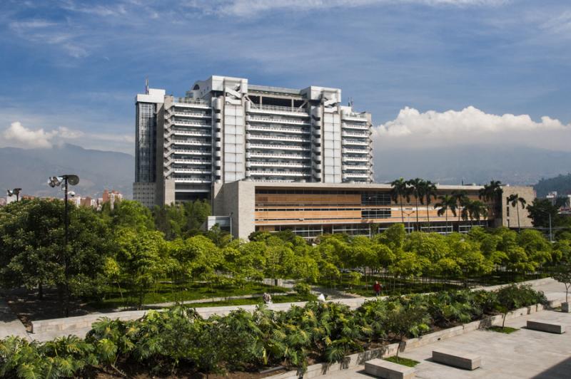
<path fill-rule="evenodd" d="M 0 209 L 1 284 L 37 287 L 39 298 L 44 287 L 56 286 L 62 301 L 64 292 L 98 294 L 111 250 L 108 234 L 108 223 L 93 209 L 70 205 L 69 244 L 64 251 L 64 202 L 31 199 L 9 204 Z"/>

